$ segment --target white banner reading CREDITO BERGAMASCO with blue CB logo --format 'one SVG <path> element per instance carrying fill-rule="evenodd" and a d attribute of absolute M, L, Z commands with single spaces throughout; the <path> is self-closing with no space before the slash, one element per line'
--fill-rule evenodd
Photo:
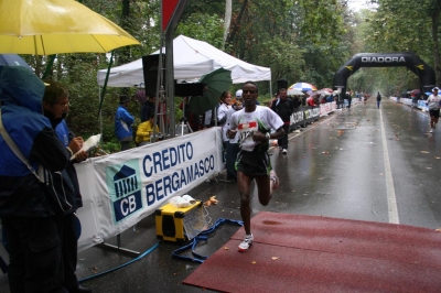
<path fill-rule="evenodd" d="M 219 173 L 220 154 L 220 128 L 211 128 L 76 165 L 84 204 L 78 250 L 125 231 Z"/>

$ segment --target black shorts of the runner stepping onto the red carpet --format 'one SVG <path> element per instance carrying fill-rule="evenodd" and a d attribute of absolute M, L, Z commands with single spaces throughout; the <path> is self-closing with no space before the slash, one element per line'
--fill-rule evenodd
<path fill-rule="evenodd" d="M 237 154 L 235 167 L 237 172 L 250 177 L 268 175 L 272 169 L 268 152 L 246 152 L 241 150 Z"/>

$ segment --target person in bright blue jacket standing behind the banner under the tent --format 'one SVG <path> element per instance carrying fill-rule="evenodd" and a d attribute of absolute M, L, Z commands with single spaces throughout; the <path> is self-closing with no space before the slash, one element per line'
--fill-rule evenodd
<path fill-rule="evenodd" d="M 130 142 L 133 140 L 133 130 L 131 124 L 135 121 L 133 116 L 129 113 L 129 96 L 119 97 L 119 107 L 115 113 L 115 134 L 121 143 L 121 151 L 130 149 Z"/>

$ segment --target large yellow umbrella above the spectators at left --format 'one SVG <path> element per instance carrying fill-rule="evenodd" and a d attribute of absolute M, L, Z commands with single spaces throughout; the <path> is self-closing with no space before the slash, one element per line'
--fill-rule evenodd
<path fill-rule="evenodd" d="M 1 0 L 0 54 L 106 53 L 140 43 L 73 0 Z"/>

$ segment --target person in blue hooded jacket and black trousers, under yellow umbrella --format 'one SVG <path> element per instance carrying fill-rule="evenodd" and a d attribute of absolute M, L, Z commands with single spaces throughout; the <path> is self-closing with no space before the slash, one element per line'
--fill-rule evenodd
<path fill-rule="evenodd" d="M 1 120 L 29 161 L 51 172 L 63 171 L 69 154 L 42 113 L 44 84 L 23 66 L 6 66 L 0 74 Z M 0 217 L 10 245 L 11 292 L 67 292 L 57 216 L 35 174 L 18 159 L 0 135 Z"/>

